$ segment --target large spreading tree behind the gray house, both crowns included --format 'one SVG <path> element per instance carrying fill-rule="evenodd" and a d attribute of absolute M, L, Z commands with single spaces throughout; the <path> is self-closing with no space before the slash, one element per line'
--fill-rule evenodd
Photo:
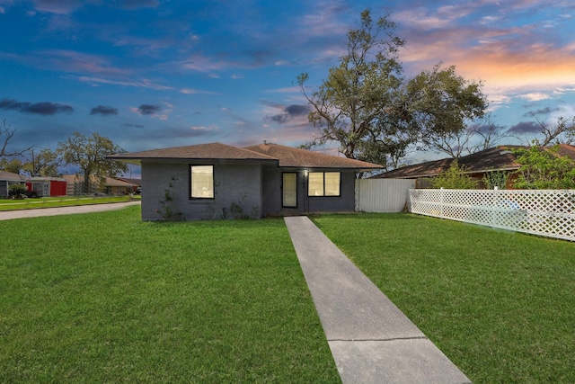
<path fill-rule="evenodd" d="M 464 119 L 482 115 L 481 84 L 468 84 L 455 67 L 438 65 L 406 81 L 398 57 L 404 41 L 394 27 L 389 14 L 373 22 L 363 11 L 340 65 L 323 84 L 308 94 L 309 76 L 297 77 L 319 131 L 310 145 L 336 141 L 344 156 L 391 167 L 416 142 L 428 145 L 433 135 L 463 129 Z"/>

